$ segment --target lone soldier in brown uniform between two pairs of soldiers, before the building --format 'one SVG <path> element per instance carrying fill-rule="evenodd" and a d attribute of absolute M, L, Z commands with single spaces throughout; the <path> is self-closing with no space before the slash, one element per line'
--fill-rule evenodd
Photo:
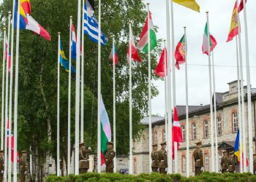
<path fill-rule="evenodd" d="M 195 160 L 195 175 L 200 175 L 203 172 L 203 151 L 201 150 L 202 142 L 198 141 L 195 144 L 197 145 L 197 149 L 193 152 Z"/>

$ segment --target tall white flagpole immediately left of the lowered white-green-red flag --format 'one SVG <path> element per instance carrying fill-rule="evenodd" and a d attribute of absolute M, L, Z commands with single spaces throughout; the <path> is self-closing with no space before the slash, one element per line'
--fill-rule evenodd
<path fill-rule="evenodd" d="M 98 173 L 101 173 L 100 165 L 101 165 L 101 158 L 100 158 L 100 147 L 101 147 L 101 133 L 100 133 L 100 99 L 101 99 L 101 0 L 99 0 L 99 29 L 98 29 Z"/>

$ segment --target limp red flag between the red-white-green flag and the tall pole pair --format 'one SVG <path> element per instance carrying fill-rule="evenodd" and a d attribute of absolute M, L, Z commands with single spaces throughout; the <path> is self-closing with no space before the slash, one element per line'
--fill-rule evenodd
<path fill-rule="evenodd" d="M 165 61 L 166 61 L 166 65 L 165 65 Z M 161 76 L 161 77 L 167 76 L 167 49 L 166 49 L 166 47 L 164 48 L 164 50 L 162 50 L 162 54 L 161 54 L 159 63 L 157 65 L 157 68 L 155 69 L 154 73 L 157 76 Z"/>

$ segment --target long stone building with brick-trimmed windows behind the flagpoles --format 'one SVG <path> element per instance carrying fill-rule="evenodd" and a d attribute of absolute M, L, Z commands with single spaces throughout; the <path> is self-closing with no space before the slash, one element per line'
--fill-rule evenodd
<path fill-rule="evenodd" d="M 237 81 L 228 83 L 229 90 L 227 92 L 217 93 L 217 138 L 218 146 L 223 149 L 233 150 L 236 135 L 238 132 L 238 84 Z M 246 131 L 247 125 L 247 97 L 246 87 L 244 87 L 245 101 L 245 117 Z M 191 99 L 191 98 L 190 98 Z M 252 136 L 254 139 L 253 151 L 255 154 L 255 103 L 256 89 L 252 89 Z M 180 143 L 178 149 L 178 173 L 186 175 L 186 106 L 177 106 L 178 118 L 181 124 L 183 143 Z M 190 158 L 190 174 L 194 174 L 194 162 L 192 160 L 192 152 L 195 150 L 195 142 L 202 141 L 204 170 L 211 171 L 211 118 L 210 105 L 189 106 L 189 158 Z M 133 154 L 133 173 L 148 173 L 148 118 L 144 118 L 141 122 L 147 128 L 143 131 L 143 137 L 140 141 L 134 143 Z M 246 132 L 248 133 L 248 132 Z M 152 117 L 152 139 L 153 143 L 162 143 L 165 141 L 165 118 Z M 246 136 L 246 146 L 248 147 L 248 135 Z M 159 146 L 160 149 L 160 146 Z M 247 148 L 248 149 L 248 148 Z M 247 157 L 249 152 L 247 151 Z M 219 163 L 222 152 L 219 151 Z M 219 165 L 220 169 L 220 165 Z M 173 162 L 174 172 L 174 162 Z"/>

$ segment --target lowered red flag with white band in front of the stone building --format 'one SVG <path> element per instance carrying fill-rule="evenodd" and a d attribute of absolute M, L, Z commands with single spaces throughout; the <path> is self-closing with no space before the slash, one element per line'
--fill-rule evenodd
<path fill-rule="evenodd" d="M 181 124 L 178 121 L 178 112 L 176 106 L 173 109 L 173 159 L 174 159 L 174 142 L 178 143 L 182 141 L 182 134 L 181 134 Z"/>

